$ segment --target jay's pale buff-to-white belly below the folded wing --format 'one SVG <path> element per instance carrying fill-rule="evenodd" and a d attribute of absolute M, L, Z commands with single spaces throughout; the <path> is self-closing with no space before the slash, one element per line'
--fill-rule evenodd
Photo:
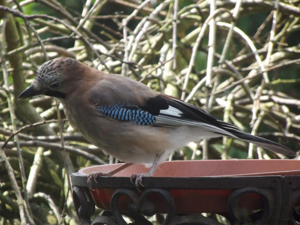
<path fill-rule="evenodd" d="M 132 129 L 132 126 L 137 127 Z M 157 154 L 162 155 L 161 161 L 165 161 L 171 153 L 191 141 L 198 141 L 201 136 L 217 137 L 219 135 L 202 133 L 187 127 L 166 128 L 131 125 L 131 128 L 128 128 L 127 132 L 123 134 L 107 133 L 103 139 L 100 136 L 98 139 L 90 141 L 102 148 L 104 153 L 112 155 L 120 161 L 143 163 L 146 166 L 151 166 Z M 107 136 L 111 138 L 105 141 Z M 103 143 L 109 144 L 104 145 Z"/>

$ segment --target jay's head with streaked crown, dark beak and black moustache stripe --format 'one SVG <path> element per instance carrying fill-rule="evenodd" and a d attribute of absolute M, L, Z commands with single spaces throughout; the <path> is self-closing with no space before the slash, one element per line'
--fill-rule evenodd
<path fill-rule="evenodd" d="M 60 57 L 45 62 L 39 67 L 30 87 L 18 99 L 37 95 L 64 99 L 70 89 L 70 81 L 74 82 L 74 73 L 78 72 L 78 67 L 79 62 L 73 58 Z"/>

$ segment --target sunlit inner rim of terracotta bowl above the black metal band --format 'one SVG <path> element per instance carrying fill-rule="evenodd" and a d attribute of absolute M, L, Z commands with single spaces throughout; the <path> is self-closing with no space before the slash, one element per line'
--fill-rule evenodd
<path fill-rule="evenodd" d="M 91 172 L 107 172 L 122 164 L 106 164 L 85 167 L 78 171 L 81 175 Z M 146 173 L 149 168 L 134 164 L 114 176 L 130 177 L 132 173 Z M 300 160 L 292 159 L 232 159 L 167 161 L 158 166 L 154 177 L 203 177 L 203 176 L 271 176 L 300 175 Z"/>

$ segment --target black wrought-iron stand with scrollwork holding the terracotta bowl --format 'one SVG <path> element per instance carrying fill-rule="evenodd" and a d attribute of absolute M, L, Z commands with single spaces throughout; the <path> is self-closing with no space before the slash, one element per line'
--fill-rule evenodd
<path fill-rule="evenodd" d="M 164 199 L 168 212 L 162 224 L 201 224 L 221 225 L 212 218 L 199 214 L 176 214 L 176 205 L 169 190 L 231 190 L 227 199 L 228 213 L 219 213 L 226 217 L 232 225 L 252 222 L 255 225 L 292 225 L 298 224 L 300 215 L 295 205 L 300 197 L 300 176 L 253 176 L 253 177 L 194 177 L 194 178 L 154 178 L 143 180 L 144 191 L 137 194 L 133 184 L 126 177 L 99 177 L 98 184 L 93 188 L 114 189 L 111 198 L 111 211 L 104 211 L 92 221 L 91 215 L 95 212 L 95 203 L 87 188 L 87 177 L 72 174 L 73 199 L 77 215 L 81 224 L 108 224 L 126 225 L 122 217 L 126 215 L 135 222 L 132 224 L 150 225 L 146 219 L 156 213 L 155 205 L 148 197 L 155 193 Z M 256 193 L 263 199 L 264 208 L 258 211 L 249 211 L 239 205 L 240 199 L 249 193 Z M 119 199 L 128 196 L 131 200 L 128 213 L 119 209 Z M 146 217 L 145 217 L 146 216 Z"/>

